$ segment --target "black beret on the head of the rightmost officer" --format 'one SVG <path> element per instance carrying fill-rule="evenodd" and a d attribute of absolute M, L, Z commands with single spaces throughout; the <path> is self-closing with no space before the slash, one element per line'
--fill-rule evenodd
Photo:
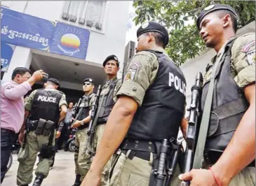
<path fill-rule="evenodd" d="M 234 13 L 234 15 L 236 16 L 235 10 L 227 4 L 211 4 L 210 6 L 207 6 L 206 8 L 204 8 L 203 11 L 201 11 L 201 13 L 198 15 L 196 20 L 197 28 L 200 29 L 200 23 L 203 20 L 203 17 L 217 10 L 229 10 L 231 13 Z"/>

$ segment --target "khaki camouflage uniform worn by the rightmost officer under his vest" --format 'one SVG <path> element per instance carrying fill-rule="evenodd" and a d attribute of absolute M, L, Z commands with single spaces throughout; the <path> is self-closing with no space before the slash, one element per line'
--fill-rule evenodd
<path fill-rule="evenodd" d="M 220 50 L 222 52 L 222 49 Z M 213 57 L 211 65 L 215 63 L 218 55 Z M 204 83 L 210 80 L 212 68 L 207 68 L 204 76 Z M 255 83 L 255 33 L 239 36 L 234 41 L 231 48 L 231 76 L 234 78 L 236 85 L 241 89 L 252 83 Z M 212 166 L 205 164 L 204 168 Z M 247 166 L 237 176 L 231 180 L 229 186 L 255 185 L 255 167 Z"/>

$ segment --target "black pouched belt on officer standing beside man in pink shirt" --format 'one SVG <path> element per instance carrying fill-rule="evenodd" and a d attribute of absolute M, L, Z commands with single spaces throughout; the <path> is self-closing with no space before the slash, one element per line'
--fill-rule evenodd
<path fill-rule="evenodd" d="M 27 122 L 27 131 L 34 131 L 37 135 L 49 136 L 53 127 L 56 127 L 55 122 L 50 120 L 46 121 L 41 118 L 39 120 L 29 120 Z"/>

